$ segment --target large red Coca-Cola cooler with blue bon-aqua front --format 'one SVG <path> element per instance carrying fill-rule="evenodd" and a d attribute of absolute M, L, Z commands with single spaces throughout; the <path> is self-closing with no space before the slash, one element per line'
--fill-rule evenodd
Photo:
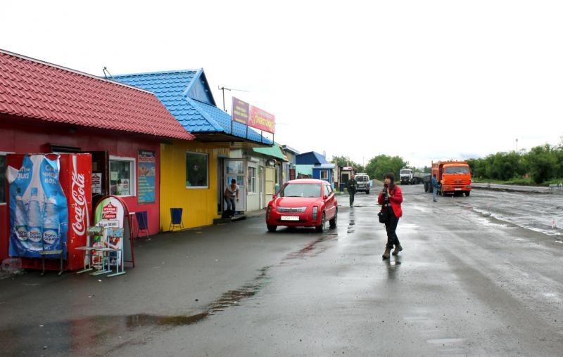
<path fill-rule="evenodd" d="M 82 267 L 76 248 L 85 244 L 89 226 L 91 155 L 10 154 L 6 163 L 8 255 L 20 257 L 23 268 Z"/>

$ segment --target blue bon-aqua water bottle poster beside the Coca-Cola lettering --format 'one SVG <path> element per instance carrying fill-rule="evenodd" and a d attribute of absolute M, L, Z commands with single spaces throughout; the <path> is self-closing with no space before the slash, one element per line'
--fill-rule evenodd
<path fill-rule="evenodd" d="M 8 168 L 11 257 L 40 258 L 41 251 L 59 249 L 66 254 L 68 208 L 59 171 L 58 158 L 44 155 L 25 156 L 19 170 Z"/>

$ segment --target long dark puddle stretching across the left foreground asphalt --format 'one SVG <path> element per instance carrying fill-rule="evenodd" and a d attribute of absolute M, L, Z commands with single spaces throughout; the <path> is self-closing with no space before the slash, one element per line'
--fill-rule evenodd
<path fill-rule="evenodd" d="M 158 316 L 139 313 L 126 316 L 87 316 L 0 330 L 0 340 L 11 342 L 9 346 L 3 348 L 3 353 L 8 355 L 17 355 L 21 351 L 29 351 L 34 355 L 68 354 L 72 351 L 84 353 L 89 349 L 95 350 L 99 346 L 109 348 L 113 345 L 112 342 L 121 342 L 114 348 L 139 343 L 134 339 L 142 339 L 145 334 L 131 335 L 135 330 L 193 325 L 229 307 L 238 306 L 241 301 L 258 294 L 270 283 L 270 277 L 267 275 L 270 268 L 271 266 L 265 266 L 260 269 L 260 274 L 251 283 L 225 292 L 219 299 L 205 306 L 203 311 L 193 315 Z M 129 341 L 129 339 L 133 340 Z"/>

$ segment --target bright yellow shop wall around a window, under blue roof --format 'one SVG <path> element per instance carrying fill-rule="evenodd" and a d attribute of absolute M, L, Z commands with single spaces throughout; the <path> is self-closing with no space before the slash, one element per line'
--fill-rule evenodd
<path fill-rule="evenodd" d="M 186 151 L 208 154 L 208 188 L 186 188 Z M 208 226 L 217 214 L 217 157 L 229 157 L 228 143 L 174 141 L 160 144 L 160 231 L 168 231 L 170 208 L 181 207 L 185 228 Z"/>

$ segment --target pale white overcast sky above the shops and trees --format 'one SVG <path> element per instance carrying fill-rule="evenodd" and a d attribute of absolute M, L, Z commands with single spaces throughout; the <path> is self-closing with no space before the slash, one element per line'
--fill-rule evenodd
<path fill-rule="evenodd" d="M 111 74 L 203 67 L 278 143 L 367 164 L 557 144 L 563 1 L 2 1 L 0 48 Z M 518 139 L 518 141 L 517 141 Z"/>

